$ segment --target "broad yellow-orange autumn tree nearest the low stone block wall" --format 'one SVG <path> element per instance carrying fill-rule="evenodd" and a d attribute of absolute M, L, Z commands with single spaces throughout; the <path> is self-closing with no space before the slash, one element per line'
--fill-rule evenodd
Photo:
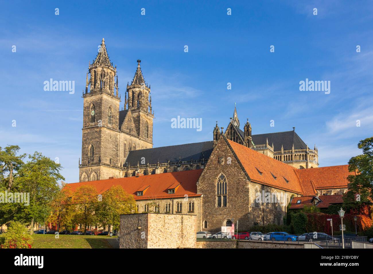
<path fill-rule="evenodd" d="M 134 196 L 128 194 L 121 186 L 112 186 L 102 195 L 102 201 L 97 203 L 95 214 L 97 221 L 103 226 L 106 224 L 119 229 L 120 214 L 131 214 L 136 212 Z"/>

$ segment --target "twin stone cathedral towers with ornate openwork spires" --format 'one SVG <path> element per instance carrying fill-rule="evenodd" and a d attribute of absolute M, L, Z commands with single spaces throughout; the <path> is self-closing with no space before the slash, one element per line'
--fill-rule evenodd
<path fill-rule="evenodd" d="M 82 159 L 79 181 L 123 177 L 125 159 L 131 150 L 153 147 L 150 85 L 145 84 L 137 60 L 131 85 L 127 83 L 124 109 L 116 66 L 110 62 L 104 38 L 86 78 L 83 92 Z"/>

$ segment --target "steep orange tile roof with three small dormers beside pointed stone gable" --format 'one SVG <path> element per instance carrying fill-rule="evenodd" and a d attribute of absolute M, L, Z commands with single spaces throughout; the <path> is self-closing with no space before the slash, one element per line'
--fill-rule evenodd
<path fill-rule="evenodd" d="M 236 142 L 227 141 L 253 182 L 303 194 L 298 176 L 294 172 L 294 167 L 261 154 L 251 148 L 244 147 Z M 261 175 L 258 170 L 261 172 Z M 284 177 L 288 182 L 286 182 Z"/>

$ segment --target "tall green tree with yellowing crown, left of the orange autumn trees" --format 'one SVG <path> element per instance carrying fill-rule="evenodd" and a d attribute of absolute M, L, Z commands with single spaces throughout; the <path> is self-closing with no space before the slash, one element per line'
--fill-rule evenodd
<path fill-rule="evenodd" d="M 60 190 L 58 182 L 65 178 L 59 172 L 61 165 L 41 153 L 35 152 L 29 159 L 19 169 L 18 188 L 30 195 L 30 204 L 21 206 L 30 221 L 32 234 L 34 221 L 44 223 L 50 215 L 51 202 Z"/>

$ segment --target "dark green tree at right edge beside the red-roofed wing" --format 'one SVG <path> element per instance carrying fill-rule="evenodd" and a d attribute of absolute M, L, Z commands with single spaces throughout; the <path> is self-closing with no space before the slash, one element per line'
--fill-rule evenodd
<path fill-rule="evenodd" d="M 357 147 L 362 149 L 363 154 L 348 161 L 349 171 L 357 173 L 347 177 L 350 183 L 344 194 L 344 203 L 349 207 L 358 207 L 373 200 L 373 137 L 361 140 Z M 356 194 L 360 195 L 360 199 L 355 198 Z"/>

